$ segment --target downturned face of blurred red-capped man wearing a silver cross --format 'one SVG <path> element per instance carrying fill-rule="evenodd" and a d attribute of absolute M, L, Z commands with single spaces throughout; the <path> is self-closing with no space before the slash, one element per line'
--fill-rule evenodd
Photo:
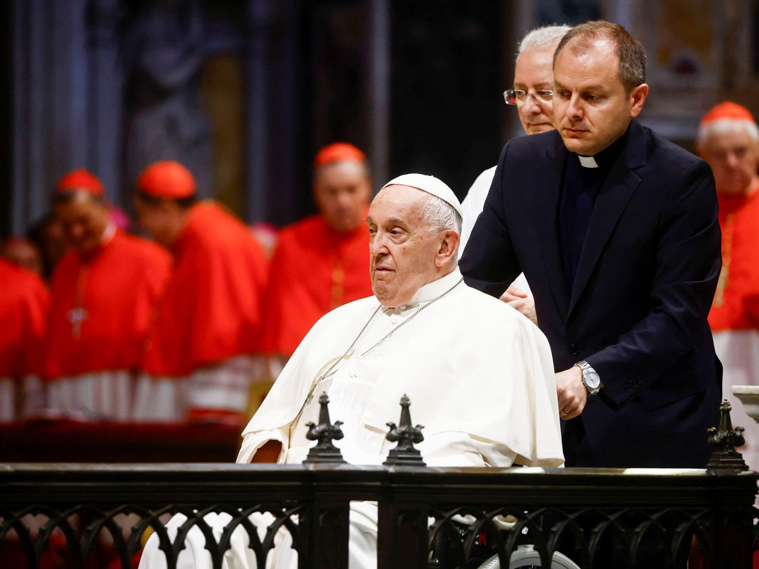
<path fill-rule="evenodd" d="M 105 203 L 80 190 L 70 200 L 55 204 L 53 210 L 71 247 L 83 255 L 99 247 L 108 227 L 108 207 Z"/>

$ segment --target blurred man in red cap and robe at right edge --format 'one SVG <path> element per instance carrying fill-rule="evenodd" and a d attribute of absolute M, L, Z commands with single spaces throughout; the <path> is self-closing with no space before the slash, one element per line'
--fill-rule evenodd
<path fill-rule="evenodd" d="M 759 127 L 747 108 L 723 102 L 701 119 L 696 147 L 714 174 L 722 228 L 722 271 L 709 324 L 724 368 L 723 396 L 732 404 L 733 424 L 746 429 L 741 451 L 757 470 L 759 426 L 730 388 L 759 382 Z"/>

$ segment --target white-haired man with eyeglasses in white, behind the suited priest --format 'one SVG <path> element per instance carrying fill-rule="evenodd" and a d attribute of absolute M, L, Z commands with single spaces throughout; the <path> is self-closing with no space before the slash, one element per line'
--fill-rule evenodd
<path fill-rule="evenodd" d="M 537 134 L 553 130 L 553 52 L 562 37 L 570 30 L 568 26 L 543 26 L 529 32 L 522 38 L 517 49 L 514 70 L 514 89 L 504 91 L 507 105 L 515 105 L 519 121 L 527 134 Z M 471 235 L 477 215 L 480 215 L 496 166 L 488 168 L 477 176 L 465 200 L 464 223 L 461 228 L 461 253 Z M 529 296 L 530 288 L 524 275 L 519 275 L 512 286 L 505 291 L 501 300 L 537 323 L 535 303 Z"/>

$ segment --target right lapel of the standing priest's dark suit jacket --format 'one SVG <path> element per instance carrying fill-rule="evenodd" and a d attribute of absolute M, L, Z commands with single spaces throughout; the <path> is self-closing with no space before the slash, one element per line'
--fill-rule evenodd
<path fill-rule="evenodd" d="M 606 242 L 611 237 L 622 212 L 625 211 L 632 194 L 641 183 L 641 178 L 638 178 L 632 169 L 645 164 L 645 152 L 646 132 L 638 121 L 633 119 L 625 147 L 606 176 L 606 181 L 603 182 L 593 206 L 591 222 L 587 228 L 582 253 L 580 253 L 575 284 L 572 287 L 567 318 L 572 314 L 572 310 L 575 309 L 587 286 L 587 281 L 590 280 L 603 248 L 606 247 Z"/>

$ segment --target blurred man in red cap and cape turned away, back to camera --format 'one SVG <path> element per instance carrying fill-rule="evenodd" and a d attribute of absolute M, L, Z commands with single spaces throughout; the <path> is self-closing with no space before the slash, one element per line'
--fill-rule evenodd
<path fill-rule="evenodd" d="M 137 420 L 244 420 L 263 375 L 261 302 L 268 259 L 252 231 L 213 202 L 178 162 L 137 180 L 140 226 L 174 255 L 174 272 L 137 389 Z"/>

